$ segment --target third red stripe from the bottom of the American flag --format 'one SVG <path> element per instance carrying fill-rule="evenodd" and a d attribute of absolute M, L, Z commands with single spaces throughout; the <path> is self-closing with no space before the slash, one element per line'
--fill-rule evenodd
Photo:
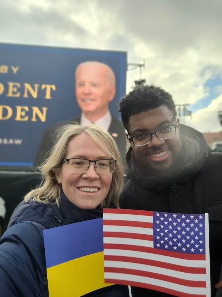
<path fill-rule="evenodd" d="M 186 267 L 186 266 L 170 264 L 170 263 L 154 261 L 154 260 L 148 260 L 148 259 L 141 259 L 141 258 L 136 258 L 136 257 L 104 255 L 104 260 L 144 264 L 144 265 L 161 267 L 161 268 L 166 268 L 166 269 L 170 269 L 170 270 L 186 272 L 186 273 L 193 273 L 193 274 L 206 274 L 206 268 L 202 268 L 202 267 L 199 267 L 199 268 Z"/>

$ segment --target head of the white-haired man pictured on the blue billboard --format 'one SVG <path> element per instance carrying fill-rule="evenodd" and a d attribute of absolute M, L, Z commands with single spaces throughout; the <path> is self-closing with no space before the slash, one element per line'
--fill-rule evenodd
<path fill-rule="evenodd" d="M 109 70 L 103 65 L 82 65 L 76 73 L 76 99 L 83 114 L 103 116 L 115 95 L 109 81 Z"/>

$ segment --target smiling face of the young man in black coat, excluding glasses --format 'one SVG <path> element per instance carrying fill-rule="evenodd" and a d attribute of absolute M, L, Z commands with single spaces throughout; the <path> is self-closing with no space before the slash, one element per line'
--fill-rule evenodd
<path fill-rule="evenodd" d="M 159 128 L 175 123 L 176 119 L 172 112 L 165 105 L 161 105 L 131 116 L 129 120 L 129 136 L 143 132 L 154 132 Z M 172 138 L 160 140 L 156 135 L 152 135 L 149 144 L 135 146 L 131 141 L 131 146 L 136 159 L 148 169 L 155 172 L 168 169 L 180 152 L 179 127 L 176 128 L 176 135 Z"/>

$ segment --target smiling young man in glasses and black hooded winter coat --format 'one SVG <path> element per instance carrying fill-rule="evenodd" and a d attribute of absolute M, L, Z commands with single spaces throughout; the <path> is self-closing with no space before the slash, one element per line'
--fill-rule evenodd
<path fill-rule="evenodd" d="M 161 88 L 135 87 L 120 102 L 120 113 L 131 144 L 121 208 L 209 213 L 211 296 L 215 296 L 214 286 L 222 277 L 222 154 L 212 153 L 200 132 L 179 124 L 173 99 Z M 136 287 L 134 293 L 171 296 Z"/>

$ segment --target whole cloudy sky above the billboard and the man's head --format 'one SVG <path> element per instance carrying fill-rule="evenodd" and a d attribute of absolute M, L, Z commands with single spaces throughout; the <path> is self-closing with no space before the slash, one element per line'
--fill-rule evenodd
<path fill-rule="evenodd" d="M 127 51 L 128 63 L 145 63 L 147 84 L 189 104 L 183 123 L 215 132 L 221 15 L 221 0 L 1 0 L 0 42 Z M 127 72 L 127 92 L 139 78 L 139 69 Z"/>

